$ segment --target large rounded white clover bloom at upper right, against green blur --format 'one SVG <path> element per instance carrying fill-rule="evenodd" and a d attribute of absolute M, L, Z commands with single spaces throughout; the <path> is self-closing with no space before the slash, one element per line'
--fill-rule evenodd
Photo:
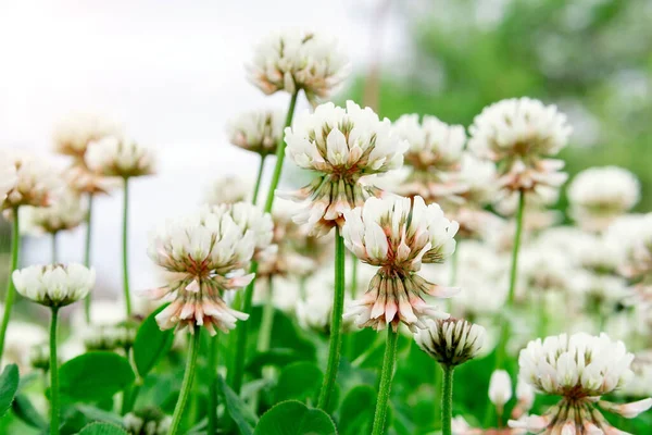
<path fill-rule="evenodd" d="M 510 190 L 559 187 L 564 162 L 546 159 L 568 142 L 572 128 L 555 105 L 530 98 L 493 103 L 474 119 L 468 148 L 478 157 L 499 162 L 500 185 Z"/>

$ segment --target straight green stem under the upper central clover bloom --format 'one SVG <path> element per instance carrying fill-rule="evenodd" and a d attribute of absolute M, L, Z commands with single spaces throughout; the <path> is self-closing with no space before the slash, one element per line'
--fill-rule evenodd
<path fill-rule="evenodd" d="M 335 227 L 335 293 L 333 296 L 333 318 L 330 320 L 330 343 L 328 345 L 328 364 L 317 408 L 326 409 L 335 388 L 337 371 L 340 363 L 340 350 L 342 347 L 342 311 L 344 310 L 344 239 L 340 234 L 339 226 Z"/>

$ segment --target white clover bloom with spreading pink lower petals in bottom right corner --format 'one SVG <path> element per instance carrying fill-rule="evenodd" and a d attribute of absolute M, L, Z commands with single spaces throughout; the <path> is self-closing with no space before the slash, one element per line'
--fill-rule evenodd
<path fill-rule="evenodd" d="M 535 417 L 539 423 L 537 431 L 518 421 L 510 421 L 510 426 L 546 434 L 576 428 L 587 431 L 582 433 L 618 433 L 594 403 L 626 418 L 652 407 L 652 399 L 626 405 L 600 400 L 631 381 L 632 360 L 634 355 L 627 352 L 623 341 L 613 341 L 605 334 L 562 334 L 530 341 L 518 357 L 519 376 L 536 390 L 562 399 L 543 417 Z"/>

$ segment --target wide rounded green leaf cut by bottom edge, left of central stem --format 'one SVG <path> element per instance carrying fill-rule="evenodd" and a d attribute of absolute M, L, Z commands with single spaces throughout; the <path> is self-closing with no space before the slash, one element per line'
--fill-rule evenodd
<path fill-rule="evenodd" d="M 253 435 L 337 435 L 335 423 L 319 409 L 297 400 L 276 405 L 261 417 Z"/>

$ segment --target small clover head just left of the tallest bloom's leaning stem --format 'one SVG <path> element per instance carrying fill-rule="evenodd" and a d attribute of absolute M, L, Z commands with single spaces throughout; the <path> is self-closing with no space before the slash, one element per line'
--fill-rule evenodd
<path fill-rule="evenodd" d="M 265 157 L 276 152 L 284 125 L 284 111 L 258 110 L 239 114 L 226 128 L 233 145 Z"/>

